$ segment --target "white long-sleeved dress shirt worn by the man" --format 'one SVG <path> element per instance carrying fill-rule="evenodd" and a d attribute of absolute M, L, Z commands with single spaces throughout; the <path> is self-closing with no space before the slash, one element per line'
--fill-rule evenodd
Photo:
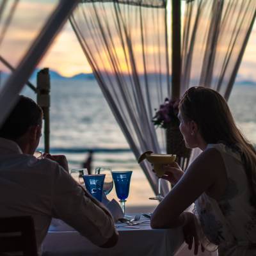
<path fill-rule="evenodd" d="M 108 210 L 58 163 L 22 154 L 17 143 L 4 138 L 0 138 L 0 207 L 0 217 L 33 217 L 38 250 L 52 217 L 97 245 L 116 232 Z"/>

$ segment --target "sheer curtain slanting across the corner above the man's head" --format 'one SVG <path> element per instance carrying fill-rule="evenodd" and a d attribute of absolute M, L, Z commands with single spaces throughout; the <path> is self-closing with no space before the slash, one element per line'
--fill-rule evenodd
<path fill-rule="evenodd" d="M 0 87 L 0 125 L 77 2 L 0 1 L 0 70 L 14 70 Z"/>

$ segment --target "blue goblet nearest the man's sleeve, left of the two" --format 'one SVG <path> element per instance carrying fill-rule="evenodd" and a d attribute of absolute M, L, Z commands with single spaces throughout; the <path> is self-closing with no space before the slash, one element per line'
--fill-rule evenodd
<path fill-rule="evenodd" d="M 94 198 L 101 202 L 105 174 L 83 175 L 83 179 L 85 188 Z"/>

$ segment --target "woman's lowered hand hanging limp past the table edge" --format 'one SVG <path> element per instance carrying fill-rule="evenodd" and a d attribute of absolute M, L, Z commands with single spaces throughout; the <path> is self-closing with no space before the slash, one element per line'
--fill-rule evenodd
<path fill-rule="evenodd" d="M 188 244 L 189 250 L 192 249 L 194 243 L 194 254 L 197 255 L 200 241 L 198 237 L 198 230 L 196 228 L 196 217 L 191 212 L 183 212 L 185 225 L 183 226 L 183 233 L 185 242 Z M 204 247 L 201 244 L 201 250 L 204 252 Z"/>

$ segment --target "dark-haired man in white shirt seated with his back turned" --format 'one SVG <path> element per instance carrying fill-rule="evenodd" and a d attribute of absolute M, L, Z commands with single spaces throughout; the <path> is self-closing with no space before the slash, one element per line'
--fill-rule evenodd
<path fill-rule="evenodd" d="M 33 156 L 41 132 L 42 109 L 20 96 L 0 127 L 0 217 L 32 216 L 38 251 L 52 217 L 98 246 L 114 246 L 118 233 L 111 214 L 72 179 L 66 157 Z"/>

